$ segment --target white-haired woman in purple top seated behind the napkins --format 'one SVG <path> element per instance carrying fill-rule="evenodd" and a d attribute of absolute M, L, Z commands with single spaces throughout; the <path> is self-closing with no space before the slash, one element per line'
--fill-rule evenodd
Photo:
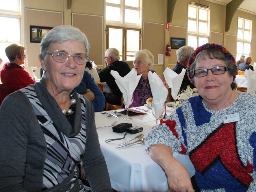
<path fill-rule="evenodd" d="M 156 72 L 152 70 L 154 65 L 154 55 L 148 50 L 140 50 L 135 52 L 135 59 L 133 62 L 134 69 L 137 72 L 137 75 L 141 75 L 141 79 L 137 87 L 134 90 L 133 102 L 130 107 L 142 106 L 146 103 L 147 99 L 152 97 L 149 81 L 148 81 L 148 72 Z M 159 76 L 161 78 L 161 76 Z M 163 81 L 163 79 L 161 78 Z"/>

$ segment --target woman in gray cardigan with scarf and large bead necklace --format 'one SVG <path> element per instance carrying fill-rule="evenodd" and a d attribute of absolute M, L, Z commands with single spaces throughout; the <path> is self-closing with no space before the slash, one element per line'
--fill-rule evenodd
<path fill-rule="evenodd" d="M 0 191 L 112 191 L 92 103 L 73 90 L 88 52 L 87 37 L 72 26 L 42 39 L 44 78 L 0 107 Z M 80 163 L 91 188 L 79 179 Z"/>

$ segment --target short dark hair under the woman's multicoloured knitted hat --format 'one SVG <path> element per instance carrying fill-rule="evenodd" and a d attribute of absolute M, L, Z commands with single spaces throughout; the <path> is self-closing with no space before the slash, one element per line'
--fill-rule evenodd
<path fill-rule="evenodd" d="M 221 52 L 220 50 L 206 49 L 206 50 L 200 51 L 197 54 L 197 56 L 195 58 L 195 61 L 191 64 L 191 66 L 189 68 L 190 69 L 189 70 L 189 75 L 193 79 L 194 82 L 195 82 L 194 71 L 195 71 L 195 67 L 197 65 L 197 62 L 205 60 L 206 57 L 208 57 L 209 59 L 219 59 L 219 60 L 224 61 L 226 66 L 229 68 L 229 70 L 228 70 L 229 76 L 236 75 L 237 66 L 234 65 L 234 63 L 232 63 L 232 59 L 228 59 L 228 57 L 226 57 L 224 55 L 224 53 Z M 233 79 L 233 82 L 231 83 L 231 89 L 234 90 L 235 88 L 236 88 L 236 83 L 234 82 L 234 79 Z"/>

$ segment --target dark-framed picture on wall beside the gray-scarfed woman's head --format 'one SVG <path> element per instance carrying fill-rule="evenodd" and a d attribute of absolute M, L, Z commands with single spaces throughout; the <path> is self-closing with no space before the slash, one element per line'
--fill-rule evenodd
<path fill-rule="evenodd" d="M 30 26 L 30 42 L 41 42 L 52 27 Z"/>

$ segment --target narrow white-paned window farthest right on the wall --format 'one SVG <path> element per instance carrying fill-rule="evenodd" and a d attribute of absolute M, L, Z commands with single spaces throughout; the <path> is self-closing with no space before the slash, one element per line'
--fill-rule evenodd
<path fill-rule="evenodd" d="M 252 41 L 252 21 L 238 17 L 237 20 L 237 47 L 236 61 L 241 55 L 250 56 L 250 46 Z"/>

